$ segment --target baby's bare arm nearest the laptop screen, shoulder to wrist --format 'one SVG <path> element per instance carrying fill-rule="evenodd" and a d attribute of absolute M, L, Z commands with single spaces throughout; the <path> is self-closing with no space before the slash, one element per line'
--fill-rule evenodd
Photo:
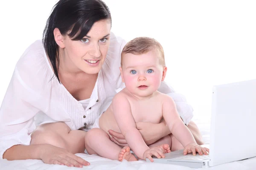
<path fill-rule="evenodd" d="M 186 147 L 190 143 L 196 143 L 192 133 L 181 120 L 174 100 L 170 96 L 166 95 L 164 95 L 163 99 L 163 118 L 165 119 L 172 134 L 183 145 L 183 147 Z"/>

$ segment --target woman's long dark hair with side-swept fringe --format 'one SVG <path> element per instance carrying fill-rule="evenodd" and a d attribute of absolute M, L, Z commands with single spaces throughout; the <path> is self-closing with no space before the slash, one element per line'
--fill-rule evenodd
<path fill-rule="evenodd" d="M 58 28 L 62 35 L 71 40 L 81 40 L 99 20 L 109 19 L 111 14 L 102 0 L 60 0 L 52 8 L 43 34 L 43 45 L 58 81 L 59 48 L 53 30 Z M 61 83 L 61 82 L 60 82 Z"/>

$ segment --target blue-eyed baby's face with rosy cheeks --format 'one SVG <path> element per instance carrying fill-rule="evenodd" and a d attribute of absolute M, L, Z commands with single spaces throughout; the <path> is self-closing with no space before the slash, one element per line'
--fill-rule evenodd
<path fill-rule="evenodd" d="M 163 70 L 163 65 L 160 65 L 154 51 L 140 55 L 123 55 L 122 80 L 128 91 L 134 95 L 145 97 L 157 91 L 164 79 Z"/>

